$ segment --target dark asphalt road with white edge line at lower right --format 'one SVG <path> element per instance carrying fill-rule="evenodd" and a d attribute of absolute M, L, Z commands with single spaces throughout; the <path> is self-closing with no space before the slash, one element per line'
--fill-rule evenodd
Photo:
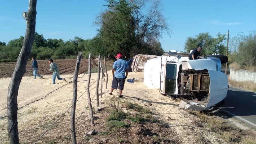
<path fill-rule="evenodd" d="M 223 111 L 248 126 L 256 128 L 255 92 L 229 87 L 227 97 L 224 100 L 225 104 L 220 106 Z"/>

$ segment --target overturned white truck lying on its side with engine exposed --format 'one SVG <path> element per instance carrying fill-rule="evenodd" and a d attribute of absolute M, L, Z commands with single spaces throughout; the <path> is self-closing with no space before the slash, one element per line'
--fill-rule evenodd
<path fill-rule="evenodd" d="M 222 55 L 189 60 L 170 51 L 169 56 L 145 61 L 144 83 L 162 94 L 187 99 L 180 103 L 186 109 L 207 110 L 227 95 L 227 75 L 220 71 L 226 62 Z"/>

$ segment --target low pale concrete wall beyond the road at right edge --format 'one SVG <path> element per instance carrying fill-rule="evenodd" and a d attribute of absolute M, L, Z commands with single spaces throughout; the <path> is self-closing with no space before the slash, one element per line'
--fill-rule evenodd
<path fill-rule="evenodd" d="M 235 70 L 230 68 L 229 79 L 242 81 L 253 81 L 256 83 L 256 72 L 249 70 Z"/>

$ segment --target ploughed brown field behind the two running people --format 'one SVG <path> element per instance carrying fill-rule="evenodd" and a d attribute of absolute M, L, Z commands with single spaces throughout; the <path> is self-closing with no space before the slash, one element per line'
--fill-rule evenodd
<path fill-rule="evenodd" d="M 48 71 L 50 69 L 50 64 L 47 60 L 37 60 L 38 62 L 38 71 L 40 75 L 50 75 L 52 72 Z M 76 60 L 54 60 L 58 65 L 60 74 L 73 74 L 74 68 L 76 66 Z M 16 62 L 4 62 L 0 63 L 0 78 L 11 77 L 15 69 Z M 30 69 L 32 61 L 28 61 L 26 66 L 26 73 L 24 76 L 32 76 L 33 69 Z M 84 73 L 88 70 L 88 60 L 81 60 L 79 74 Z"/>

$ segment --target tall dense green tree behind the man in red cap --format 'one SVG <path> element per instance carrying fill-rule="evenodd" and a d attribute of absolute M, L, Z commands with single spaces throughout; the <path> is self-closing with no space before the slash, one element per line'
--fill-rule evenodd
<path fill-rule="evenodd" d="M 128 59 L 135 40 L 133 8 L 126 0 L 107 2 L 108 9 L 98 17 L 101 28 L 94 41 L 101 42 L 102 51 L 112 56 L 122 53 Z"/>

